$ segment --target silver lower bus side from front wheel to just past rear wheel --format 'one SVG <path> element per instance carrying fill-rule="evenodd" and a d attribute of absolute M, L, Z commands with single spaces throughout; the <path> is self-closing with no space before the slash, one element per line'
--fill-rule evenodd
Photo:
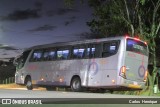
<path fill-rule="evenodd" d="M 79 76 L 82 86 L 86 86 L 86 71 L 88 59 L 31 62 L 27 70 L 32 77 L 33 84 L 70 86 L 73 76 Z"/>

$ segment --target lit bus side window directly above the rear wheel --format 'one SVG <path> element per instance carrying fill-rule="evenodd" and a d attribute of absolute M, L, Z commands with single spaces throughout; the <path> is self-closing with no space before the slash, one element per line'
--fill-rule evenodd
<path fill-rule="evenodd" d="M 85 47 L 73 48 L 73 58 L 84 58 L 84 57 L 85 57 Z"/>

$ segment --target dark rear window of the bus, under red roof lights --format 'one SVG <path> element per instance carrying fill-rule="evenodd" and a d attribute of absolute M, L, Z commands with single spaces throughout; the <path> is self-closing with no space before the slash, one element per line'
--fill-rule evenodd
<path fill-rule="evenodd" d="M 126 50 L 148 56 L 147 45 L 138 40 L 128 38 Z"/>

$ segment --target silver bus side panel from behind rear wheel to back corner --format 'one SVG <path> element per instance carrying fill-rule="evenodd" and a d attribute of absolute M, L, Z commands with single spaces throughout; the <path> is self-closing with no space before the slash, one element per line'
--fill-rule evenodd
<path fill-rule="evenodd" d="M 119 49 L 115 55 L 105 57 L 105 58 L 96 58 L 91 61 L 91 63 L 96 63 L 92 66 L 92 73 L 90 74 L 89 69 L 89 78 L 88 86 L 89 87 L 101 87 L 101 88 L 110 88 L 117 87 L 121 84 L 119 80 L 122 77 L 119 76 L 120 68 L 124 65 L 124 39 L 121 40 L 119 44 Z"/>

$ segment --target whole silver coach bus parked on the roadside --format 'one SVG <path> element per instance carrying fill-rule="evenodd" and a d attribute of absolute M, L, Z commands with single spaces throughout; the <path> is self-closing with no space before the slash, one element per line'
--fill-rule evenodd
<path fill-rule="evenodd" d="M 15 60 L 15 83 L 33 86 L 118 90 L 143 89 L 148 46 L 138 38 L 108 37 L 33 46 Z"/>

